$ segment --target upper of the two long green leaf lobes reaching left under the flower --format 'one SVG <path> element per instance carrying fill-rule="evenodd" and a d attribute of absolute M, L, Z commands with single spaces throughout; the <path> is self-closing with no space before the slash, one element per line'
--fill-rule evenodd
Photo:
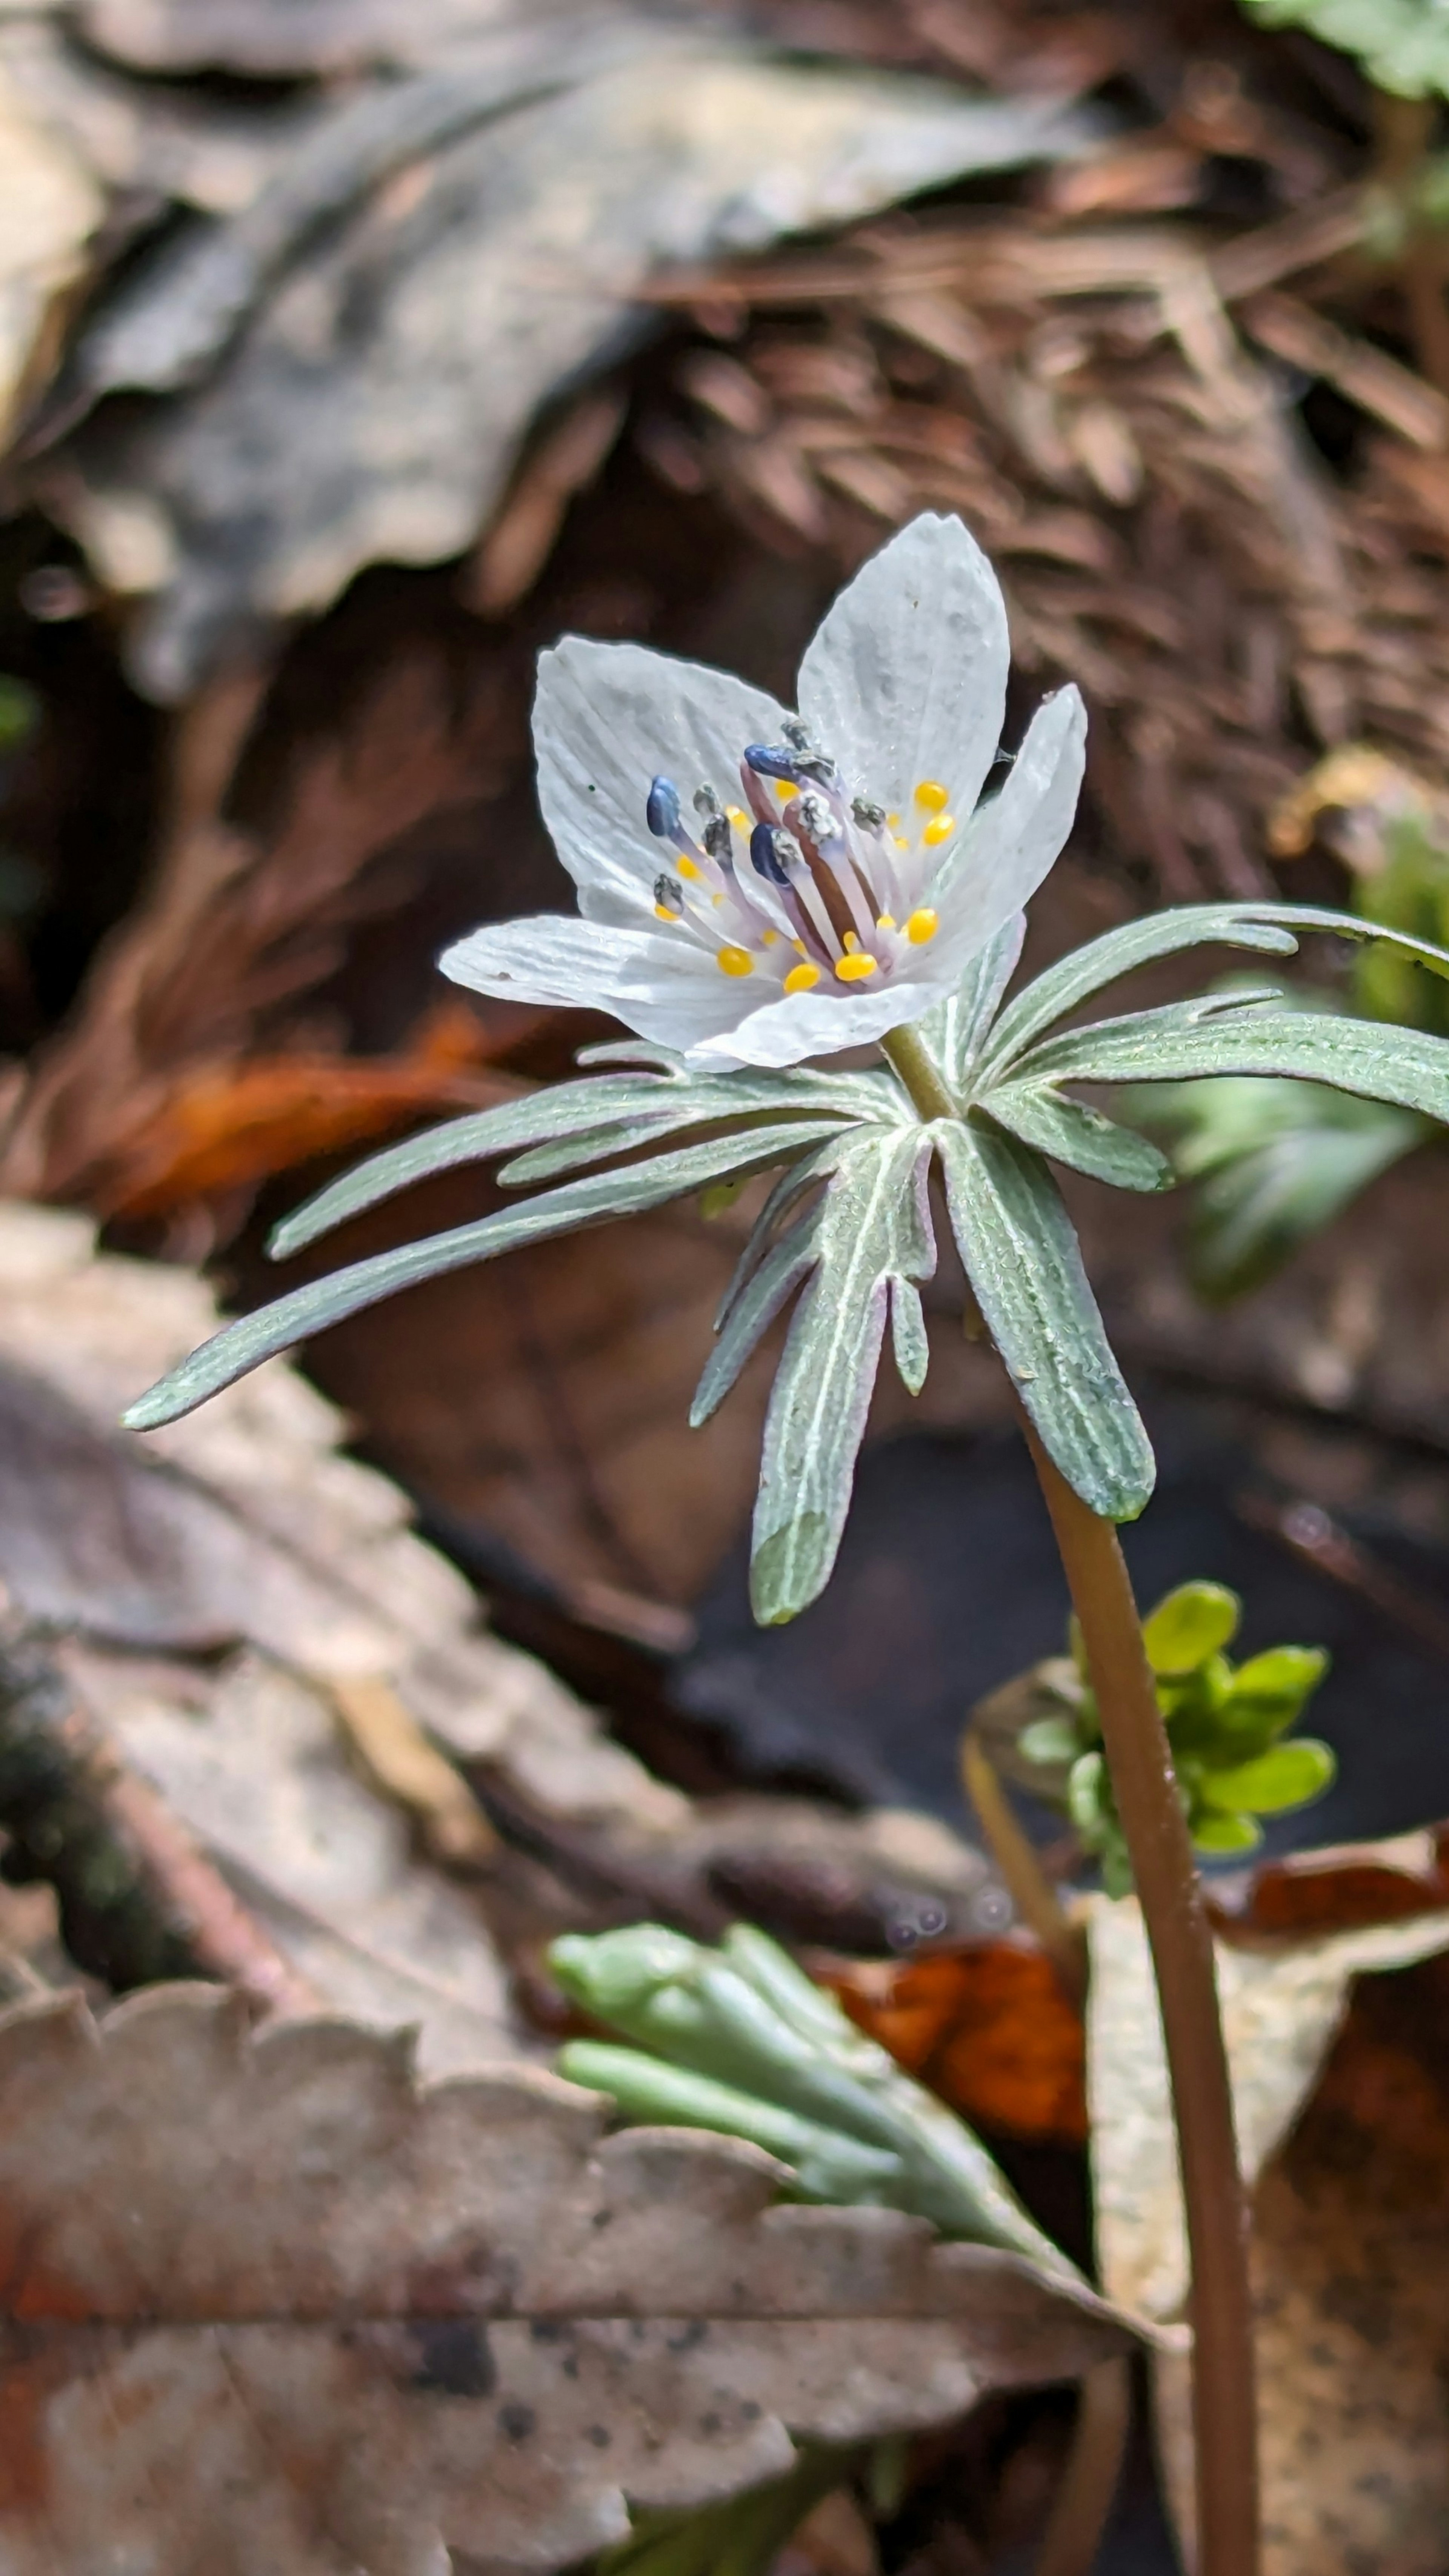
<path fill-rule="evenodd" d="M 529 1092 L 523 1100 L 503 1100 L 492 1110 L 474 1110 L 469 1118 L 451 1118 L 423 1136 L 405 1136 L 402 1144 L 371 1154 L 356 1172 L 343 1172 L 317 1198 L 309 1198 L 271 1236 L 273 1260 L 286 1260 L 317 1242 L 348 1216 L 374 1208 L 397 1190 L 425 1180 L 433 1172 L 451 1172 L 464 1162 L 487 1162 L 521 1146 L 547 1149 L 554 1141 L 580 1144 L 580 1162 L 598 1154 L 619 1154 L 632 1144 L 663 1139 L 676 1126 L 701 1126 L 724 1118 L 779 1118 L 820 1115 L 833 1121 L 900 1115 L 902 1095 L 890 1074 L 686 1074 L 676 1059 L 665 1059 L 657 1074 L 596 1074 L 585 1082 L 559 1082 L 552 1090 Z M 629 1144 L 619 1136 L 629 1131 Z M 593 1133 L 606 1141 L 593 1149 Z M 541 1177 L 511 1167 L 513 1180 Z"/>

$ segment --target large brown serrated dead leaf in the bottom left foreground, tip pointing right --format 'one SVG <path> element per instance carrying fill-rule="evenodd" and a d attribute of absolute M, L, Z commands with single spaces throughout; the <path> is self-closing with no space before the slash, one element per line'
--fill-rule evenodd
<path fill-rule="evenodd" d="M 204 1986 L 13 2014 L 5 2576 L 557 2568 L 792 2434 L 938 2424 L 1129 2339 L 1018 2257 L 601 2117 L 526 2069 L 418 2094 L 397 2045 L 250 2035 Z"/>

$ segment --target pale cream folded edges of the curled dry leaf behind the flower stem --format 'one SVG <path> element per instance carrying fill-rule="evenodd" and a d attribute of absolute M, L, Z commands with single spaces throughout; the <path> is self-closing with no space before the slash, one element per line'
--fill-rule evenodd
<path fill-rule="evenodd" d="M 1183 2311 L 1189 2257 L 1163 2025 L 1134 1896 L 1088 1899 L 1088 2112 L 1096 2251 L 1114 2298 Z M 1356 1976 L 1449 1947 L 1449 1914 L 1240 1950 L 1217 1942 L 1238 2151 L 1253 2187 L 1310 2097 Z"/>

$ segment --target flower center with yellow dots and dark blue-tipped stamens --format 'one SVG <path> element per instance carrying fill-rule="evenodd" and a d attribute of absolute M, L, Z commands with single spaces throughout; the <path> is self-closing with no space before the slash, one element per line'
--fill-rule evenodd
<path fill-rule="evenodd" d="M 908 814 L 846 799 L 841 770 L 797 719 L 784 742 L 740 760 L 740 804 L 694 791 L 686 822 L 673 778 L 655 778 L 647 824 L 673 848 L 655 878 L 655 914 L 706 945 L 727 976 L 763 974 L 779 992 L 890 984 L 936 938 L 923 899 L 957 829 L 938 778 L 920 778 Z"/>

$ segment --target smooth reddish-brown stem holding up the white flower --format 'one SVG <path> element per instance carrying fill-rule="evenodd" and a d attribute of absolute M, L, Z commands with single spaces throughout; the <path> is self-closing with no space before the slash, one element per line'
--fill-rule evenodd
<path fill-rule="evenodd" d="M 892 1030 L 882 1043 L 923 1118 L 962 1115 L 915 1030 Z M 1212 1927 L 1116 1528 L 1073 1492 L 1021 1396 L 1016 1412 L 1083 1631 L 1163 2012 L 1191 2257 L 1196 2576 L 1256 2576 L 1258 2403 L 1248 2202 L 1238 2172 Z"/>

